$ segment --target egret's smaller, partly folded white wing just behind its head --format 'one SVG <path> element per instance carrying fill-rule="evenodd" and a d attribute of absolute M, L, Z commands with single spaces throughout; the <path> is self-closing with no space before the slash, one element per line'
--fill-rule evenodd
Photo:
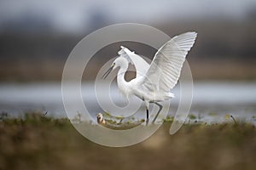
<path fill-rule="evenodd" d="M 148 63 L 139 55 L 131 52 L 128 48 L 121 46 L 121 50 L 119 51 L 119 55 L 125 57 L 131 63 L 131 65 L 135 66 L 136 69 L 136 77 L 145 76 L 148 71 L 149 65 Z"/>

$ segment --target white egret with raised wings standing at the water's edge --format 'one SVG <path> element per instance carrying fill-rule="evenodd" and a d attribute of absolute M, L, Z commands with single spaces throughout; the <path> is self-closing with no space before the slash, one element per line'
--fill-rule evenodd
<path fill-rule="evenodd" d="M 185 32 L 172 37 L 171 40 L 163 44 L 154 54 L 154 58 L 149 65 L 139 54 L 121 46 L 119 56 L 113 60 L 112 65 L 102 75 L 102 79 L 115 69 L 119 69 L 117 75 L 117 85 L 119 91 L 130 98 L 132 95 L 142 99 L 146 106 L 146 125 L 149 122 L 149 104 L 159 106 L 159 111 L 154 116 L 154 123 L 163 108 L 160 102 L 174 98 L 171 90 L 177 84 L 190 48 L 193 47 L 197 33 L 195 31 Z M 129 64 L 134 65 L 136 77 L 130 82 L 125 81 L 125 72 Z"/>

